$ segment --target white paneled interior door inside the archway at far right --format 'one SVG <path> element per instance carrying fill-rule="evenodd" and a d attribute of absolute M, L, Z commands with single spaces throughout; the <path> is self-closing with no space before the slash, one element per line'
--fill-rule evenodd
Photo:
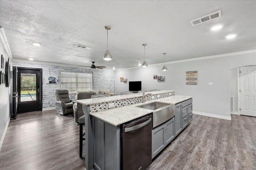
<path fill-rule="evenodd" d="M 240 114 L 256 117 L 256 66 L 240 67 Z"/>

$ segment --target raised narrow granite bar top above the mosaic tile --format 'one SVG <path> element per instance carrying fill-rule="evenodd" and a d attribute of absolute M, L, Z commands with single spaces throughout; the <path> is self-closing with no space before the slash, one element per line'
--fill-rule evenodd
<path fill-rule="evenodd" d="M 175 90 L 161 90 L 161 91 L 155 91 L 155 92 L 145 92 L 145 94 L 148 94 L 148 93 L 161 94 L 161 93 L 168 93 L 168 92 L 174 92 L 174 91 Z M 76 100 L 75 102 L 78 102 L 82 105 L 91 105 L 91 104 L 98 104 L 98 103 L 104 103 L 104 102 L 112 102 L 112 101 L 122 100 L 122 99 L 137 98 L 141 96 L 142 96 L 142 93 L 134 93 L 134 94 L 109 96 L 107 98 L 82 99 L 82 100 Z"/>

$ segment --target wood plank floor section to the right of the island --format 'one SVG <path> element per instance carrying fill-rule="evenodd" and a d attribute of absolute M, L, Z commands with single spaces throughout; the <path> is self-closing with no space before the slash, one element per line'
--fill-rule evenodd
<path fill-rule="evenodd" d="M 256 117 L 193 121 L 148 170 L 256 170 Z"/>

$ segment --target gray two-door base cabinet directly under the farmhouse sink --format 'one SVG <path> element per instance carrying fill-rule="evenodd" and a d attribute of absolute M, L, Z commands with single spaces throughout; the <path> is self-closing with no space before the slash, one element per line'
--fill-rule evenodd
<path fill-rule="evenodd" d="M 152 158 L 161 152 L 175 137 L 174 117 L 152 130 Z"/>

